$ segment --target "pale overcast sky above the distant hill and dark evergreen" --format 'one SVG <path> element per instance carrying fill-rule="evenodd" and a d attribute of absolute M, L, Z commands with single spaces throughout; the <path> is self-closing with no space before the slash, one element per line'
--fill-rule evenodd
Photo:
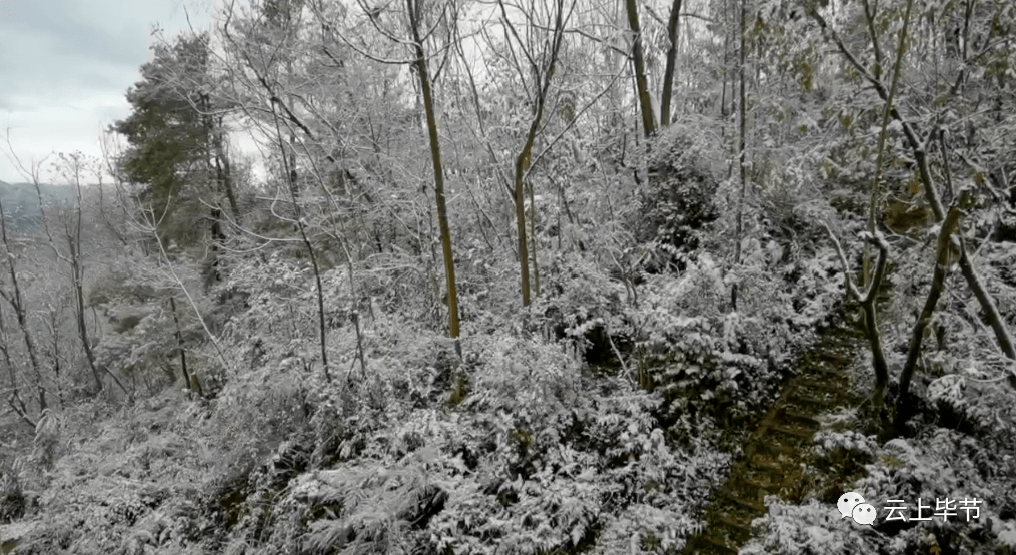
<path fill-rule="evenodd" d="M 100 131 L 130 112 L 124 94 L 151 57 L 152 25 L 172 39 L 185 9 L 207 28 L 209 0 L 0 0 L 0 180 L 25 181 L 4 156 L 8 132 L 25 165 L 100 156 Z"/>

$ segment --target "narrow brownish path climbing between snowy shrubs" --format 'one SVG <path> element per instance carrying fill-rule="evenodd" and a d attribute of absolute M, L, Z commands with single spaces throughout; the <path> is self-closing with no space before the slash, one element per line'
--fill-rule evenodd
<path fill-rule="evenodd" d="M 766 513 L 765 496 L 792 497 L 800 491 L 801 464 L 819 429 L 815 417 L 851 400 L 847 370 L 864 352 L 863 337 L 842 323 L 823 331 L 750 436 L 744 455 L 706 508 L 703 532 L 689 538 L 683 553 L 738 553 L 751 538 L 752 520 Z"/>

